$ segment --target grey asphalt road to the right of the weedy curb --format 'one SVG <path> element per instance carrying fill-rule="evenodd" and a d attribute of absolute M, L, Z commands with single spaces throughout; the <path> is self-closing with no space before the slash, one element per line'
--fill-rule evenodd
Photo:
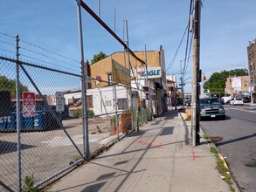
<path fill-rule="evenodd" d="M 223 138 L 225 155 L 241 191 L 256 191 L 256 106 L 225 106 L 226 120 L 200 121 L 205 134 Z"/>

